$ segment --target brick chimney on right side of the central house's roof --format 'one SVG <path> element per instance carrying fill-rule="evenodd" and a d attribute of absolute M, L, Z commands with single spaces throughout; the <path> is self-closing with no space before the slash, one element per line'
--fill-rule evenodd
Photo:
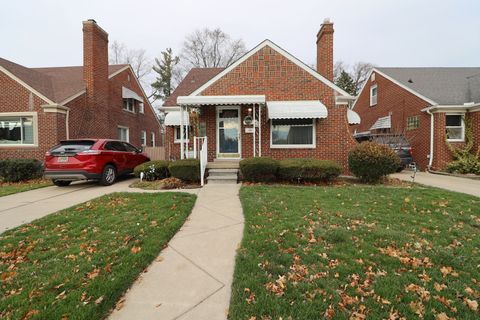
<path fill-rule="evenodd" d="M 333 22 L 328 18 L 317 33 L 317 72 L 333 81 Z"/>

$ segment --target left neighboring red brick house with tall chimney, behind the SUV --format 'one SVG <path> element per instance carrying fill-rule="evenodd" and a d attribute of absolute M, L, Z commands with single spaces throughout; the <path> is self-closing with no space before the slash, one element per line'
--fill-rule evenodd
<path fill-rule="evenodd" d="M 83 22 L 83 66 L 27 68 L 0 58 L 0 159 L 43 159 L 60 140 L 158 145 L 160 123 L 130 65 L 108 64 L 108 34 Z"/>

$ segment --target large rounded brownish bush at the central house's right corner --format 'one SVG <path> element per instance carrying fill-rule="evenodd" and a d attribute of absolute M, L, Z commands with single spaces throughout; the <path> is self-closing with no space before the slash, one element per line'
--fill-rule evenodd
<path fill-rule="evenodd" d="M 364 182 L 377 182 L 394 173 L 400 166 L 400 157 L 388 146 L 362 142 L 348 154 L 350 171 Z"/>

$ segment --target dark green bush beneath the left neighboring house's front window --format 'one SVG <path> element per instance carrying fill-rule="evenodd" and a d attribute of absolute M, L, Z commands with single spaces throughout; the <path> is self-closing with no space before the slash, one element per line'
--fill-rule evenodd
<path fill-rule="evenodd" d="M 38 179 L 43 175 L 42 163 L 35 159 L 0 160 L 0 180 L 18 182 Z"/>

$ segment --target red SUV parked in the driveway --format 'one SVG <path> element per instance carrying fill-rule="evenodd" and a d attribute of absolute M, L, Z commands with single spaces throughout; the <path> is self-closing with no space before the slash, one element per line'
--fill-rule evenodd
<path fill-rule="evenodd" d="M 108 139 L 65 140 L 45 155 L 45 177 L 57 186 L 98 180 L 109 186 L 118 176 L 150 159 L 128 142 Z"/>

